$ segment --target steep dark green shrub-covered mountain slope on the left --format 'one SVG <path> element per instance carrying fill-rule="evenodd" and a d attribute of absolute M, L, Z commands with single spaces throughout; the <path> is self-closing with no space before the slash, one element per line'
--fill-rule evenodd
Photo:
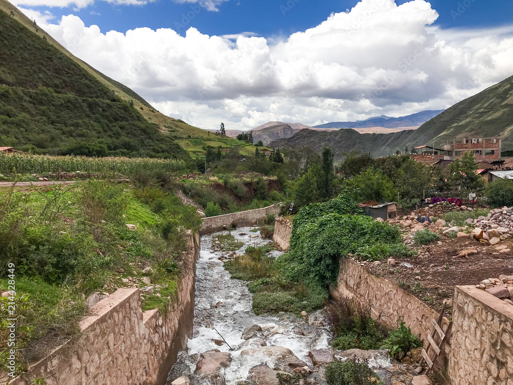
<path fill-rule="evenodd" d="M 0 146 L 185 159 L 179 141 L 207 134 L 156 111 L 0 0 Z"/>

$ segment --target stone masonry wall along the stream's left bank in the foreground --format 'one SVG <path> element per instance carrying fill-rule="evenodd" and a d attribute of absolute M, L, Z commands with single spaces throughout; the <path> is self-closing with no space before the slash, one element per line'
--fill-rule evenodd
<path fill-rule="evenodd" d="M 166 315 L 159 310 L 143 313 L 139 289 L 120 288 L 81 321 L 80 341 L 55 349 L 9 384 L 30 384 L 34 378 L 45 378 L 45 385 L 164 384 L 192 333 L 199 253 L 199 235 L 189 233 L 177 300 Z"/>

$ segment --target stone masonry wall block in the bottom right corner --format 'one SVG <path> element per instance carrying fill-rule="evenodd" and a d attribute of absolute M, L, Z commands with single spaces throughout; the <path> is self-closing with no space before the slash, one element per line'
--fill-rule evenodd
<path fill-rule="evenodd" d="M 513 385 L 513 306 L 456 286 L 449 377 L 453 385 Z"/>

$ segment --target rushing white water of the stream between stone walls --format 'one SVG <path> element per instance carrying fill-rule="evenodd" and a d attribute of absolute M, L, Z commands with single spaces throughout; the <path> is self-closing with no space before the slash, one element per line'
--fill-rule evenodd
<path fill-rule="evenodd" d="M 260 246 L 270 241 L 260 238 L 250 238 L 249 235 L 260 235 L 259 232 L 251 233 L 252 227 L 242 227 L 231 230 L 236 240 L 244 242 L 239 254 L 249 246 Z M 223 232 L 226 234 L 228 232 Z M 247 235 L 240 236 L 240 233 Z M 317 332 L 308 336 L 298 335 L 295 329 L 304 325 L 302 319 L 290 314 L 277 316 L 257 316 L 252 309 L 252 295 L 247 284 L 238 279 L 230 279 L 230 273 L 223 267 L 219 257 L 221 252 L 211 253 L 212 237 L 219 235 L 205 235 L 201 238 L 201 255 L 196 267 L 196 307 L 194 314 L 194 337 L 188 341 L 188 354 L 203 353 L 211 349 L 219 349 L 232 355 L 232 363 L 226 369 L 225 378 L 227 384 L 246 379 L 249 370 L 255 365 L 267 363 L 273 367 L 272 359 L 267 356 L 241 355 L 241 351 L 255 346 L 251 340 L 249 345 L 240 348 L 238 345 L 245 342 L 241 338 L 243 331 L 253 324 L 262 326 L 263 338 L 267 345 L 282 346 L 290 349 L 298 358 L 311 365 L 308 351 L 311 349 L 326 349 L 329 346 L 329 331 L 323 328 L 315 328 Z M 279 256 L 278 251 L 272 252 Z M 211 307 L 221 302 L 218 307 Z M 313 317 L 321 319 L 320 313 Z M 209 328 L 212 325 L 226 339 L 234 351 L 230 351 L 226 344 L 218 346 L 214 339 L 221 339 L 218 333 Z M 193 368 L 191 368 L 193 369 Z"/>

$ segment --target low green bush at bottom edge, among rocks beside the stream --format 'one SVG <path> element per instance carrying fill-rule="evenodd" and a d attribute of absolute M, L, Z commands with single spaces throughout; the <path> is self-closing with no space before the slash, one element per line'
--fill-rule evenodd
<path fill-rule="evenodd" d="M 347 360 L 326 365 L 328 385 L 383 385 L 367 362 Z"/>

